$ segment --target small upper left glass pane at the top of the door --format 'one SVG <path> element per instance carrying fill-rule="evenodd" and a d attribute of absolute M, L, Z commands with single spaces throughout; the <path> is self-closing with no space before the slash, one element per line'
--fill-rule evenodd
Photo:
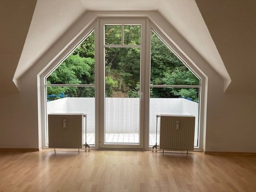
<path fill-rule="evenodd" d="M 122 25 L 105 25 L 105 45 L 122 44 Z"/>

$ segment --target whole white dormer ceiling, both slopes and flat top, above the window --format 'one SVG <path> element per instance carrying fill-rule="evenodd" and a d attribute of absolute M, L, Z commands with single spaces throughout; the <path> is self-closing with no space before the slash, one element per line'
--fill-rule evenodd
<path fill-rule="evenodd" d="M 37 0 L 13 81 L 17 82 L 86 11 L 158 11 L 219 73 L 224 90 L 231 83 L 194 0 Z"/>

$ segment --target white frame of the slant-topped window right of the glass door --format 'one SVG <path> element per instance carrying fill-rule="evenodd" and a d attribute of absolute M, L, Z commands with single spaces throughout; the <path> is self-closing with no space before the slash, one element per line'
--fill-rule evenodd
<path fill-rule="evenodd" d="M 153 23 L 153 21 L 148 20 L 148 26 L 147 26 L 147 37 L 148 37 L 148 41 L 147 43 L 147 48 L 149 47 L 149 50 L 147 51 L 147 55 L 149 55 L 149 57 L 147 57 L 147 62 L 149 63 L 149 65 L 146 65 L 146 74 L 148 74 L 148 77 L 146 78 L 145 82 L 146 84 L 148 84 L 149 86 L 146 87 L 145 93 L 147 93 L 148 95 L 145 94 L 145 102 L 148 104 L 147 106 L 147 110 L 145 109 L 145 116 L 148 117 L 147 120 L 145 120 L 145 124 L 147 127 L 147 142 L 146 144 L 148 144 L 149 146 L 149 103 L 150 103 L 150 87 L 195 87 L 195 88 L 199 88 L 199 109 L 198 109 L 198 146 L 195 146 L 195 151 L 202 151 L 203 149 L 203 131 L 204 131 L 204 125 L 205 125 L 205 89 L 206 89 L 206 78 L 202 75 L 202 72 L 199 70 L 199 68 L 195 65 L 195 63 L 193 63 L 192 60 L 190 60 L 185 53 L 178 48 L 178 46 L 176 45 L 176 43 L 171 39 L 171 34 L 168 36 L 168 34 L 166 34 L 166 32 L 164 32 L 159 26 L 157 26 L 157 24 Z M 199 78 L 199 85 L 151 85 L 150 84 L 150 68 L 151 68 L 151 30 L 153 30 L 158 36 L 159 38 L 171 49 L 171 51 L 183 62 L 183 64 L 185 64 L 191 72 L 193 72 L 196 77 Z"/>

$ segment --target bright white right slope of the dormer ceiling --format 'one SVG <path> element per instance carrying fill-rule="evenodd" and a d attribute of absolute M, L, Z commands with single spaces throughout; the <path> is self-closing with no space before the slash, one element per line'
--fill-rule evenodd
<path fill-rule="evenodd" d="M 224 80 L 231 82 L 207 26 L 194 0 L 161 0 L 158 11 L 195 48 Z"/>

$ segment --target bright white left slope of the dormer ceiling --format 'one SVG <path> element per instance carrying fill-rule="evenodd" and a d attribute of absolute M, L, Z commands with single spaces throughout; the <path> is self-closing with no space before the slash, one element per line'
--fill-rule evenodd
<path fill-rule="evenodd" d="M 80 0 L 37 0 L 14 79 L 26 72 L 84 12 Z"/>

